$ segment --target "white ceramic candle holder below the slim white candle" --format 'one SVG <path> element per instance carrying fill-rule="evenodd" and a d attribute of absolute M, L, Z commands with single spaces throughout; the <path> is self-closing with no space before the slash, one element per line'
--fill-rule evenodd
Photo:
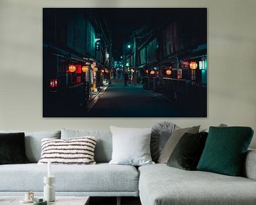
<path fill-rule="evenodd" d="M 46 184 L 43 186 L 43 199 L 48 202 L 55 201 L 55 176 L 43 177 L 43 183 Z"/>

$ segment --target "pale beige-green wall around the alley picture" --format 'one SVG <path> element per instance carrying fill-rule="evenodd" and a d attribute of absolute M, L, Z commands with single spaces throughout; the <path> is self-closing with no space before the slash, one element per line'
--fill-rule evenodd
<path fill-rule="evenodd" d="M 43 7 L 207 7 L 208 117 L 43 118 Z M 166 120 L 181 127 L 250 126 L 256 132 L 255 8 L 255 0 L 1 0 L 0 130 L 108 130 L 110 125 L 149 127 Z M 251 147 L 256 147 L 256 134 Z"/>

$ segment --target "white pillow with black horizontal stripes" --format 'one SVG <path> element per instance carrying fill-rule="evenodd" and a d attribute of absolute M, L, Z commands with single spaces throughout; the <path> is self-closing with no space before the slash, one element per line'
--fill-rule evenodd
<path fill-rule="evenodd" d="M 95 137 L 75 137 L 66 140 L 43 139 L 38 164 L 96 164 Z"/>

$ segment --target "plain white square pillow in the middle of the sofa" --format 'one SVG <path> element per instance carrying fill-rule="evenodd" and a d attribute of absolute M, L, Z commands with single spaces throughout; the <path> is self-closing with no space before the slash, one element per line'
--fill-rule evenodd
<path fill-rule="evenodd" d="M 151 128 L 110 126 L 113 152 L 110 164 L 141 166 L 152 164 L 150 154 Z"/>

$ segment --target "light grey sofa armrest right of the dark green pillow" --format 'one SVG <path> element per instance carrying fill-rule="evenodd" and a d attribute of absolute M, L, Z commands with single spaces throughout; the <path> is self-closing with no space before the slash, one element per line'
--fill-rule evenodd
<path fill-rule="evenodd" d="M 256 149 L 248 149 L 246 153 L 244 177 L 256 180 Z"/>

